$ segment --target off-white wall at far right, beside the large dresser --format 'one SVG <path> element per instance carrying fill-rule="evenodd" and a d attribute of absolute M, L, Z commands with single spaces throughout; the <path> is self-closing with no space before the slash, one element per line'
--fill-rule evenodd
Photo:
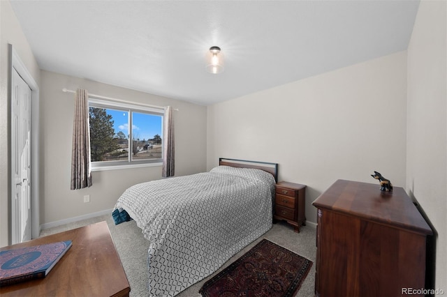
<path fill-rule="evenodd" d="M 408 48 L 406 189 L 437 231 L 436 284 L 447 291 L 447 5 L 421 1 Z"/>

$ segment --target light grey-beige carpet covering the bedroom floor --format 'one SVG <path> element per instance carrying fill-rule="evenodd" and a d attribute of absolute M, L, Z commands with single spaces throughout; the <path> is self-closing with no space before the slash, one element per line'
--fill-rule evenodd
<path fill-rule="evenodd" d="M 110 234 L 112 234 L 113 241 L 115 242 L 119 257 L 121 258 L 124 266 L 124 271 L 126 271 L 129 284 L 131 285 L 130 296 L 147 296 L 147 249 L 149 247 L 149 242 L 142 236 L 141 229 L 136 226 L 134 221 L 124 222 L 115 226 L 111 214 L 102 215 L 89 220 L 82 220 L 71 224 L 64 224 L 58 227 L 44 229 L 41 231 L 41 236 L 50 235 L 69 229 L 75 229 L 87 224 L 101 221 L 107 222 L 110 229 Z M 282 247 L 296 252 L 302 257 L 314 262 L 311 271 L 309 271 L 309 274 L 302 283 L 300 290 L 295 295 L 298 297 L 314 296 L 316 256 L 315 236 L 316 230 L 314 227 L 302 227 L 300 233 L 298 234 L 293 232 L 293 227 L 290 225 L 286 224 L 285 222 L 278 222 L 277 224 L 273 224 L 272 229 L 267 231 L 263 236 L 261 236 L 261 238 L 258 238 L 256 241 L 248 245 L 247 248 L 244 248 L 244 250 L 235 254 L 235 256 L 228 260 L 226 264 L 219 269 L 219 271 L 233 263 L 233 261 L 241 257 L 242 254 L 253 248 L 254 245 L 261 241 L 262 238 L 266 238 L 269 241 L 277 243 L 277 245 L 281 245 Z M 219 271 L 205 278 L 205 280 L 193 284 L 177 296 L 200 296 L 198 293 L 200 287 L 202 287 L 202 285 L 207 280 L 210 280 L 210 278 L 212 278 L 215 274 L 219 273 Z"/>

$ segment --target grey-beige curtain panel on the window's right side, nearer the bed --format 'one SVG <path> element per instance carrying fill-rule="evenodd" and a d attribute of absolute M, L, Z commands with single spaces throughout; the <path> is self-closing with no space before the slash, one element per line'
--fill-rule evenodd
<path fill-rule="evenodd" d="M 174 118 L 173 107 L 166 107 L 163 122 L 163 177 L 174 176 Z"/>

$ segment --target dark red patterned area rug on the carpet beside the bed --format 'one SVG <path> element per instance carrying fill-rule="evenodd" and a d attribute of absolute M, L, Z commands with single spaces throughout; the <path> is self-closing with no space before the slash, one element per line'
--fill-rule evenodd
<path fill-rule="evenodd" d="M 233 264 L 205 282 L 204 297 L 293 296 L 312 261 L 263 239 Z"/>

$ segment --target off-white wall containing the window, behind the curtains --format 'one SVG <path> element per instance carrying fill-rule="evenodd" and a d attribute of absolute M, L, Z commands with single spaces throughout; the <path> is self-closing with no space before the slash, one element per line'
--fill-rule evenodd
<path fill-rule="evenodd" d="M 206 107 L 47 71 L 41 72 L 41 79 L 41 224 L 113 208 L 130 185 L 161 178 L 161 166 L 93 172 L 90 188 L 70 190 L 75 94 L 64 93 L 63 88 L 80 87 L 101 96 L 178 108 L 175 175 L 206 170 Z M 89 203 L 84 203 L 84 195 L 90 195 Z"/>

